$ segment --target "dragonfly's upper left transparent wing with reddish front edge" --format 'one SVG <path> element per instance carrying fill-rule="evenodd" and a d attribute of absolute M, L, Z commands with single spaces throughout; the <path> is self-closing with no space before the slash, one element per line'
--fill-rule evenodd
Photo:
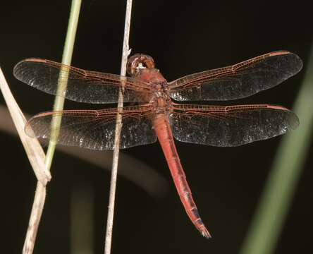
<path fill-rule="evenodd" d="M 151 88 L 135 78 L 85 71 L 44 59 L 25 59 L 13 69 L 15 77 L 43 92 L 57 94 L 58 83 L 67 84 L 65 94 L 59 96 L 76 102 L 116 103 L 118 91 L 124 87 L 124 102 L 149 101 Z"/>

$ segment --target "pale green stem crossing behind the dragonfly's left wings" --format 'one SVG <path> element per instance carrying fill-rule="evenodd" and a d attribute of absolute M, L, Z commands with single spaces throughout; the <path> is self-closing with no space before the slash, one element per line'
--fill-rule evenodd
<path fill-rule="evenodd" d="M 68 20 L 68 30 L 66 33 L 66 41 L 63 48 L 63 56 L 62 56 L 62 63 L 66 65 L 70 65 L 74 42 L 75 42 L 75 35 L 78 25 L 78 18 L 80 15 L 80 5 L 81 0 L 73 0 L 72 6 L 70 8 L 70 18 Z M 68 80 L 68 73 L 65 70 L 61 69 L 59 83 L 58 83 L 58 90 L 56 92 L 56 99 L 54 100 L 54 111 L 60 111 L 63 109 L 64 100 L 63 96 L 66 93 L 67 87 L 67 80 Z M 54 117 L 51 121 L 51 139 L 49 141 L 49 146 L 46 154 L 46 166 L 47 169 L 51 168 L 52 159 L 54 157 L 54 151 L 56 150 L 56 143 L 59 136 L 59 128 L 61 124 L 61 117 Z"/>

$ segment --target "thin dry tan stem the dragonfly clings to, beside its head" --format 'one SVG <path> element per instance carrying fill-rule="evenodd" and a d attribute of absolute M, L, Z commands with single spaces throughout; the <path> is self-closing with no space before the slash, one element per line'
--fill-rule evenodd
<path fill-rule="evenodd" d="M 123 40 L 123 55 L 121 63 L 121 75 L 126 75 L 126 63 L 129 50 L 129 33 L 130 33 L 130 17 L 132 12 L 132 0 L 128 0 L 126 4 L 126 14 L 125 14 L 125 28 L 124 28 L 124 40 Z M 123 107 L 123 90 L 120 89 L 118 93 L 118 111 L 121 113 Z M 106 238 L 104 246 L 104 254 L 111 253 L 111 243 L 112 243 L 112 231 L 113 231 L 113 216 L 114 216 L 114 205 L 115 205 L 115 195 L 116 195 L 116 178 L 118 169 L 118 155 L 119 146 L 121 141 L 121 129 L 122 129 L 122 116 L 118 114 L 116 117 L 116 129 L 115 129 L 115 139 L 114 139 L 114 151 L 113 151 L 113 162 L 112 162 L 112 172 L 111 172 L 111 185 L 109 194 L 109 208 L 108 217 L 106 221 Z"/>

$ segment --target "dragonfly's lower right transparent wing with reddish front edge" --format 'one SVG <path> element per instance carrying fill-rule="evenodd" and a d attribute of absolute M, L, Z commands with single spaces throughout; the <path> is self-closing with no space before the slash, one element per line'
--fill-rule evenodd
<path fill-rule="evenodd" d="M 173 136 L 182 142 L 232 147 L 281 135 L 297 128 L 299 119 L 274 105 L 205 106 L 175 104 Z"/>

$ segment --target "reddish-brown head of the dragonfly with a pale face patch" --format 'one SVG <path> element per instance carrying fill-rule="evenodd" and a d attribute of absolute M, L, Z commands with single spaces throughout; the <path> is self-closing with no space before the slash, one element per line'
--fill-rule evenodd
<path fill-rule="evenodd" d="M 127 61 L 127 73 L 135 76 L 141 68 L 154 68 L 154 60 L 145 54 L 134 54 Z"/>

